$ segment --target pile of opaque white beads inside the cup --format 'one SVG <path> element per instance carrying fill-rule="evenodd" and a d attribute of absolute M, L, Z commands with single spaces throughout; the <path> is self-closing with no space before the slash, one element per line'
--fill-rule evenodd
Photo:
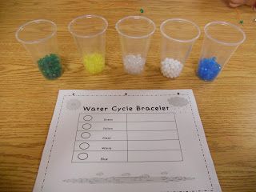
<path fill-rule="evenodd" d="M 165 58 L 161 62 L 161 72 L 166 78 L 177 78 L 182 72 L 183 64 L 174 58 Z"/>

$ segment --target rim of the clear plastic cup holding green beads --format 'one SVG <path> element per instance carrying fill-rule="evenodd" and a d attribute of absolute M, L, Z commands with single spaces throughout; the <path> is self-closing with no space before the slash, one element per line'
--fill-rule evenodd
<path fill-rule="evenodd" d="M 22 31 L 22 29 L 28 25 L 30 25 L 31 23 L 36 23 L 36 22 L 48 22 L 50 23 L 52 26 L 54 26 L 54 29 L 53 31 L 49 34 L 49 35 L 46 35 L 45 38 L 40 38 L 38 40 L 35 40 L 35 41 L 24 41 L 22 40 L 21 38 L 19 38 L 19 33 Z M 52 38 L 54 36 L 54 34 L 56 34 L 57 32 L 57 26 L 54 22 L 50 21 L 50 20 L 47 20 L 47 19 L 36 19 L 36 20 L 33 20 L 33 21 L 30 21 L 30 22 L 26 22 L 25 24 L 23 24 L 22 26 L 18 27 L 18 30 L 16 31 L 15 33 L 15 37 L 16 39 L 18 40 L 18 42 L 22 42 L 24 44 L 36 44 L 36 43 L 39 43 L 39 42 L 44 42 L 46 41 L 47 39 L 49 38 Z"/>

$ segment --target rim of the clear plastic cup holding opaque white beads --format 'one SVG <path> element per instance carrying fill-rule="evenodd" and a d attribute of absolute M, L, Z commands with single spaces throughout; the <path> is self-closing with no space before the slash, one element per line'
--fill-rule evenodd
<path fill-rule="evenodd" d="M 179 38 L 172 38 L 170 37 L 169 35 L 167 35 L 164 31 L 163 31 L 163 27 L 166 25 L 166 22 L 188 22 L 190 24 L 192 24 L 193 26 L 195 26 L 195 28 L 198 30 L 198 34 L 197 36 L 195 36 L 194 38 L 191 38 L 191 39 L 179 39 Z M 184 18 L 169 18 L 169 19 L 166 19 L 165 21 L 163 21 L 161 23 L 161 26 L 160 26 L 160 31 L 161 31 L 161 34 L 165 37 L 165 38 L 168 38 L 170 40 L 173 40 L 175 42 L 194 42 L 195 40 L 197 40 L 201 34 L 201 30 L 200 28 L 198 27 L 197 24 L 195 24 L 194 22 L 191 22 L 190 20 L 187 20 L 187 19 L 184 19 Z"/>

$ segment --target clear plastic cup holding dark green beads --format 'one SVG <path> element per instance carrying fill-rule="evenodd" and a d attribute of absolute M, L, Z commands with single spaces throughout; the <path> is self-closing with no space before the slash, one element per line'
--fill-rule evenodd
<path fill-rule="evenodd" d="M 31 54 L 42 75 L 50 80 L 62 76 L 63 71 L 56 31 L 57 26 L 54 22 L 38 19 L 26 22 L 16 32 L 18 42 L 21 42 Z"/>

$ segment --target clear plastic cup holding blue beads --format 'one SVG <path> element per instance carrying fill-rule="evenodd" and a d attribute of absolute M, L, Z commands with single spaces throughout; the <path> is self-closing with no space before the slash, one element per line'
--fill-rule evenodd
<path fill-rule="evenodd" d="M 205 27 L 198 77 L 213 81 L 229 61 L 234 51 L 246 39 L 246 34 L 230 22 L 210 22 Z"/>

